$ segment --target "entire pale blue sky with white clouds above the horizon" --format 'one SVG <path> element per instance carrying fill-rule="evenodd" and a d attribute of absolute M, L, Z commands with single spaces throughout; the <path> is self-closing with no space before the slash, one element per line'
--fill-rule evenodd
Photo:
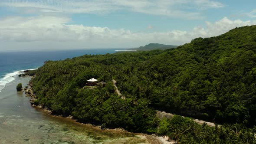
<path fill-rule="evenodd" d="M 256 25 L 256 0 L 0 0 L 0 51 L 183 45 Z"/>

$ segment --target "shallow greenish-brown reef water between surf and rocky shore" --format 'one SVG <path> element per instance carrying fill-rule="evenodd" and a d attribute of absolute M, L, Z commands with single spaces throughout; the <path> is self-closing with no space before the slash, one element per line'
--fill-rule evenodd
<path fill-rule="evenodd" d="M 0 144 L 137 144 L 147 139 L 125 131 L 101 130 L 69 118 L 53 117 L 31 106 L 16 85 L 30 77 L 16 78 L 0 93 Z"/>

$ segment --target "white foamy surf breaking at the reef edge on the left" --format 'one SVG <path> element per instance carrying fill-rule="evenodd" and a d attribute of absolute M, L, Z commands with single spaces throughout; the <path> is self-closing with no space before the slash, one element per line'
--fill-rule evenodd
<path fill-rule="evenodd" d="M 24 70 L 19 70 L 19 71 L 15 71 L 15 72 L 4 75 L 4 77 L 0 79 L 0 92 L 3 88 L 5 88 L 7 83 L 14 81 L 18 77 L 18 75 L 22 74 L 25 70 L 35 70 L 35 69 L 24 69 Z"/>

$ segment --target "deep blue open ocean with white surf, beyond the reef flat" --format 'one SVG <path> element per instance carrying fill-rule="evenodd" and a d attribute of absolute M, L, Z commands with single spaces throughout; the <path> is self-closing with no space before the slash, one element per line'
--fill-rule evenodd
<path fill-rule="evenodd" d="M 14 81 L 23 70 L 37 69 L 47 60 L 63 60 L 86 54 L 115 53 L 115 50 L 120 49 L 0 52 L 0 92 L 8 83 Z"/>

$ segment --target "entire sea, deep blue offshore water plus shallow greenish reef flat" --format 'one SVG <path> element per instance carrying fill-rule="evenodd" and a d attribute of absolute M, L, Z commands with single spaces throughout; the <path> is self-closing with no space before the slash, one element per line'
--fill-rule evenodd
<path fill-rule="evenodd" d="M 46 60 L 84 54 L 114 53 L 115 49 L 86 49 L 34 52 L 0 52 L 0 144 L 122 144 L 149 143 L 146 136 L 126 131 L 101 130 L 69 118 L 49 115 L 33 107 L 25 92 L 30 77 L 18 77 L 25 69 L 36 69 Z"/>

